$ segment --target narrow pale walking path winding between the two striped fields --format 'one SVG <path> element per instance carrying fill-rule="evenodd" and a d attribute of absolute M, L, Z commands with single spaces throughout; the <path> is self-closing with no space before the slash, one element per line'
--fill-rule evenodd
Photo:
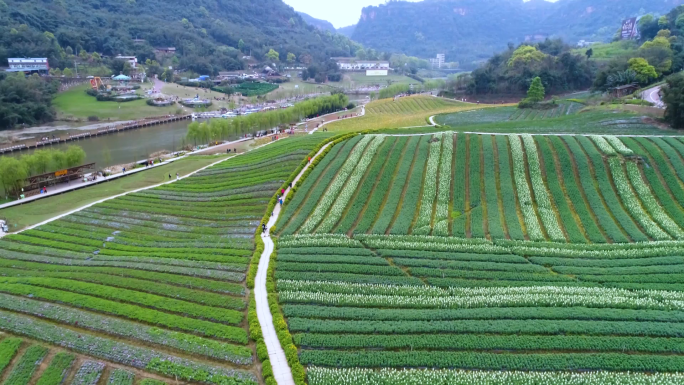
<path fill-rule="evenodd" d="M 331 143 L 328 143 L 323 146 L 323 148 L 321 148 L 311 160 L 313 161 L 314 159 L 318 158 L 323 150 L 330 146 L 330 144 Z M 304 172 L 308 170 L 309 167 L 311 167 L 311 165 L 304 167 L 304 169 L 294 179 L 294 182 L 292 182 L 293 185 L 299 181 L 299 178 L 304 175 Z M 283 201 L 285 201 L 285 198 L 289 193 L 290 188 L 285 190 Z M 257 275 L 254 281 L 254 298 L 256 300 L 257 306 L 257 318 L 259 318 L 261 332 L 264 336 L 266 348 L 268 349 L 268 360 L 271 362 L 271 366 L 273 367 L 273 377 L 275 377 L 278 385 L 294 385 L 294 379 L 292 378 L 290 365 L 287 363 L 285 351 L 283 350 L 283 347 L 280 346 L 280 341 L 278 340 L 275 326 L 273 326 L 273 316 L 271 315 L 271 310 L 268 306 L 268 292 L 266 291 L 268 264 L 271 260 L 271 254 L 273 253 L 273 241 L 269 236 L 269 232 L 271 227 L 273 227 L 278 220 L 280 209 L 281 205 L 276 205 L 271 219 L 266 224 L 266 233 L 261 235 L 261 238 L 264 241 L 264 252 L 261 254 L 261 259 L 259 259 L 259 268 L 257 269 Z"/>

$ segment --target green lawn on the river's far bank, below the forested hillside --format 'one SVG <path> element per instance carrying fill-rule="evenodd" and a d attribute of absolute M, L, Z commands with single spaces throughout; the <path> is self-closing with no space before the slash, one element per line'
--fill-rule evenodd
<path fill-rule="evenodd" d="M 178 107 L 152 107 L 144 99 L 132 102 L 98 102 L 85 93 L 88 85 L 74 87 L 58 94 L 53 100 L 60 117 L 87 119 L 97 116 L 100 120 L 134 120 L 149 116 L 174 114 Z"/>

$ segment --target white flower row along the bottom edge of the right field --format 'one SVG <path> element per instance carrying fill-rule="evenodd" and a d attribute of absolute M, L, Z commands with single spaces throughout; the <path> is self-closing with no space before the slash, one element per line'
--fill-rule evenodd
<path fill-rule="evenodd" d="M 310 385 L 676 385 L 682 373 L 333 369 L 312 366 Z"/>

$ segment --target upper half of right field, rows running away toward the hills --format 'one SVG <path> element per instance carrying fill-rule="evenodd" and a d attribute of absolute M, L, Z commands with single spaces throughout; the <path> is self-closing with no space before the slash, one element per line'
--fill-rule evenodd
<path fill-rule="evenodd" d="M 357 136 L 312 172 L 278 228 L 285 235 L 682 240 L 683 159 L 676 138 Z"/>

